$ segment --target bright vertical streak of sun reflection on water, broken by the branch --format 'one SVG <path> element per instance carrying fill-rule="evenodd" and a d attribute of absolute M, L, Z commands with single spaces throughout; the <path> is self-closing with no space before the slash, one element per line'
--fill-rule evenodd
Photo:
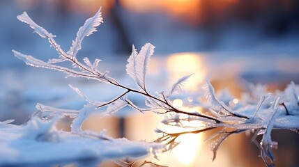
<path fill-rule="evenodd" d="M 204 70 L 203 61 L 201 59 L 201 55 L 193 54 L 193 53 L 180 53 L 173 54 L 167 58 L 167 70 L 169 71 L 169 84 L 173 84 L 177 79 L 187 75 L 194 75 L 188 79 L 188 81 L 183 86 L 183 90 L 186 91 L 197 91 L 200 87 L 199 84 L 204 81 L 206 72 Z M 188 100 L 192 102 L 192 100 Z M 185 106 L 183 106 L 183 100 L 176 99 L 173 101 L 173 105 L 176 108 L 184 108 L 188 110 Z M 184 126 L 190 127 L 198 127 L 199 122 L 183 122 Z M 200 141 L 201 134 L 185 134 L 179 136 L 177 141 L 180 143 L 172 153 L 174 157 L 178 159 L 181 163 L 181 166 L 192 166 L 194 164 L 195 157 L 197 157 L 197 153 L 200 150 Z"/>

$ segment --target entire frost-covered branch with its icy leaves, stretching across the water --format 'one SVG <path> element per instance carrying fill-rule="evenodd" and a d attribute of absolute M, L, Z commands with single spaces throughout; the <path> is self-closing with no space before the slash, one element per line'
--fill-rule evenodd
<path fill-rule="evenodd" d="M 105 84 L 123 88 L 124 92 L 117 95 L 109 102 L 91 101 L 85 95 L 83 95 L 79 89 L 72 88 L 88 102 L 81 110 L 72 111 L 66 109 L 55 109 L 53 107 L 44 106 L 43 104 L 37 104 L 38 111 L 45 114 L 44 117 L 49 116 L 70 116 L 75 118 L 72 121 L 71 129 L 73 134 L 79 134 L 81 136 L 90 136 L 99 138 L 101 140 L 112 141 L 112 138 L 107 136 L 94 134 L 91 132 L 84 132 L 82 130 L 82 124 L 91 113 L 102 112 L 98 109 L 107 106 L 105 111 L 106 115 L 115 113 L 122 109 L 124 106 L 130 106 L 132 109 L 144 113 L 146 111 L 153 111 L 154 113 L 165 115 L 162 123 L 169 126 L 181 127 L 183 130 L 176 133 L 164 132 L 164 130 L 157 129 L 157 133 L 161 133 L 162 136 L 155 140 L 156 143 L 162 143 L 166 147 L 165 150 L 153 150 L 155 152 L 164 152 L 172 150 L 178 142 L 176 138 L 183 134 L 199 134 L 207 132 L 212 129 L 220 129 L 214 135 L 208 138 L 210 141 L 210 150 L 213 151 L 213 160 L 216 158 L 217 150 L 220 145 L 231 136 L 231 134 L 241 134 L 243 132 L 255 131 L 252 137 L 253 143 L 255 143 L 261 150 L 261 157 L 265 161 L 266 166 L 272 166 L 274 164 L 274 156 L 272 149 L 276 142 L 272 141 L 270 134 L 274 129 L 299 129 L 299 88 L 293 82 L 286 87 L 284 92 L 275 93 L 273 95 L 268 94 L 264 90 L 265 94 L 261 97 L 254 97 L 255 91 L 259 91 L 258 88 L 252 92 L 245 93 L 245 96 L 238 100 L 238 106 L 232 106 L 229 102 L 225 103 L 222 99 L 219 99 L 215 95 L 215 90 L 210 84 L 210 81 L 206 79 L 206 87 L 204 88 L 205 95 L 199 93 L 194 100 L 194 106 L 201 107 L 202 111 L 185 111 L 183 108 L 177 108 L 173 105 L 171 97 L 175 94 L 182 93 L 182 87 L 185 81 L 192 77 L 193 74 L 189 74 L 181 79 L 178 79 L 173 86 L 171 86 L 169 93 L 157 93 L 153 95 L 148 93 L 146 89 L 146 72 L 151 56 L 154 53 L 155 47 L 150 43 L 146 43 L 139 53 L 135 46 L 132 46 L 132 54 L 128 58 L 126 65 L 126 72 L 137 85 L 137 88 L 130 88 L 120 84 L 116 79 L 109 77 L 108 72 L 100 72 L 98 65 L 100 60 L 95 58 L 95 61 L 91 63 L 89 58 L 83 58 L 80 62 L 77 59 L 77 53 L 81 49 L 81 43 L 85 37 L 93 34 L 97 31 L 96 27 L 102 23 L 102 15 L 100 9 L 95 15 L 86 20 L 83 26 L 77 31 L 75 40 L 72 41 L 72 45 L 68 51 L 63 51 L 61 47 L 54 40 L 55 35 L 47 32 L 43 27 L 38 26 L 33 20 L 23 13 L 17 16 L 21 22 L 29 24 L 38 35 L 42 38 L 47 38 L 52 47 L 59 53 L 59 58 L 49 59 L 45 62 L 33 56 L 21 54 L 18 51 L 13 50 L 13 53 L 17 58 L 22 59 L 27 65 L 33 67 L 43 67 L 52 70 L 58 70 L 68 74 L 67 77 L 83 77 L 86 79 L 95 79 Z M 59 63 L 68 61 L 71 63 L 72 68 L 63 67 Z M 258 86 L 256 86 L 258 87 Z M 128 99 L 129 93 L 135 93 L 142 95 L 145 99 L 147 108 L 142 109 L 135 105 Z M 247 95 L 247 96 L 246 96 Z M 201 97 L 206 97 L 207 101 L 202 100 Z M 186 97 L 183 97 L 183 99 Z M 233 98 L 234 99 L 234 98 Z M 231 102 L 232 100 L 231 99 Z M 277 105 L 278 104 L 278 105 Z M 103 114 L 103 115 L 105 115 Z M 190 122 L 200 122 L 197 127 L 188 126 Z M 187 124 L 187 125 L 186 125 Z M 227 130 L 231 129 L 231 130 Z M 256 141 L 256 136 L 263 135 L 261 143 Z M 270 159 L 268 163 L 267 158 Z M 117 163 L 121 163 L 121 160 Z M 116 164 L 117 164 L 116 163 Z M 153 164 L 148 163 L 146 164 Z M 143 164 L 144 165 L 144 164 Z"/>

